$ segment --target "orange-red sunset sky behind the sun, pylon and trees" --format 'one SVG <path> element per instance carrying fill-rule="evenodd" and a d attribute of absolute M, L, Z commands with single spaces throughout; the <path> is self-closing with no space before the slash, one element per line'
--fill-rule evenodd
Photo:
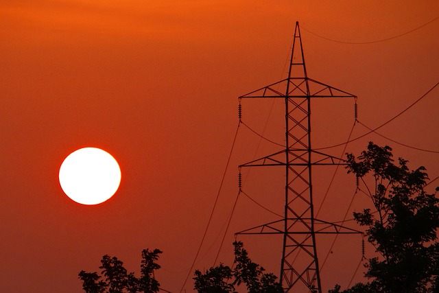
<path fill-rule="evenodd" d="M 193 292 L 192 274 L 182 286 L 218 194 L 197 269 L 213 266 L 218 251 L 217 263 L 230 266 L 235 232 L 278 220 L 239 194 L 219 250 L 239 191 L 238 165 L 280 150 L 237 128 L 237 97 L 286 77 L 296 21 L 308 76 L 357 95 L 359 121 L 375 128 L 439 82 L 438 16 L 436 0 L 0 1 L 1 291 L 82 292 L 78 272 L 99 270 L 102 255 L 139 274 L 141 250 L 159 248 L 161 288 Z M 246 125 L 284 143 L 282 100 L 241 103 Z M 354 101 L 312 107 L 313 146 L 346 141 Z M 388 144 L 437 178 L 438 110 L 436 86 L 377 130 L 433 152 L 377 134 L 346 152 L 359 154 L 368 141 Z M 351 138 L 366 132 L 356 124 Z M 119 191 L 96 206 L 73 202 L 58 182 L 64 158 L 84 147 L 106 150 L 121 167 Z M 342 156 L 343 145 L 324 151 Z M 343 220 L 355 178 L 340 167 L 322 204 L 335 167 L 313 170 L 319 218 Z M 242 173 L 248 196 L 283 211 L 283 169 Z M 357 194 L 348 218 L 367 204 Z M 239 239 L 254 261 L 279 274 L 278 238 Z M 322 259 L 332 239 L 318 238 Z M 360 259 L 361 237 L 338 237 L 322 268 L 324 292 L 335 283 L 346 288 Z"/>

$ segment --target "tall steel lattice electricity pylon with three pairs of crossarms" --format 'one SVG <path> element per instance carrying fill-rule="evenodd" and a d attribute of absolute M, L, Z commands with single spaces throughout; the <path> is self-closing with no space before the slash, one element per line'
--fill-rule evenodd
<path fill-rule="evenodd" d="M 355 95 L 307 76 L 298 22 L 294 31 L 288 77 L 239 97 L 285 99 L 285 149 L 239 167 L 285 167 L 285 209 L 282 220 L 237 234 L 283 235 L 279 281 L 285 292 L 322 292 L 316 235 L 359 233 L 314 217 L 313 166 L 342 165 L 344 161 L 311 148 L 311 99 Z"/>

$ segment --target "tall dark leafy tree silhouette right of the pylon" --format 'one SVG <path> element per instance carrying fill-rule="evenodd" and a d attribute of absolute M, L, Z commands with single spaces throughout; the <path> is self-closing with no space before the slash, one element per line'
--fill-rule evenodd
<path fill-rule="evenodd" d="M 372 142 L 358 158 L 347 154 L 347 159 L 348 173 L 357 176 L 375 207 L 354 218 L 366 227 L 379 257 L 365 265 L 367 283 L 343 292 L 439 292 L 439 199 L 424 191 L 425 167 L 410 170 L 401 158 L 395 163 L 392 148 Z M 329 292 L 340 292 L 340 286 Z"/>

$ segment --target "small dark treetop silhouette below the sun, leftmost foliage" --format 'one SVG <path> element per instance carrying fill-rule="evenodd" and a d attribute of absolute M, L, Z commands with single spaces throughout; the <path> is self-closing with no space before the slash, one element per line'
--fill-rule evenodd
<path fill-rule="evenodd" d="M 154 278 L 154 270 L 160 265 L 156 263 L 161 250 L 142 250 L 141 277 L 137 278 L 133 272 L 128 273 L 123 262 L 117 257 L 104 255 L 101 259 L 101 275 L 97 272 L 82 270 L 78 276 L 82 281 L 82 289 L 86 293 L 153 293 L 158 292 L 160 283 Z M 102 280 L 105 277 L 105 281 Z"/>

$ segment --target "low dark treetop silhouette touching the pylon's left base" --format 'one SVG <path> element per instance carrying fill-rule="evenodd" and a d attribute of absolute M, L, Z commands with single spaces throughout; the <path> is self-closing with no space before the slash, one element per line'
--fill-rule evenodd
<path fill-rule="evenodd" d="M 242 242 L 233 242 L 235 261 L 233 268 L 219 266 L 209 268 L 204 274 L 195 270 L 194 289 L 199 293 L 236 292 L 235 286 L 246 285 L 248 293 L 281 293 L 281 284 L 272 273 L 264 273 L 265 269 L 248 257 Z"/>

